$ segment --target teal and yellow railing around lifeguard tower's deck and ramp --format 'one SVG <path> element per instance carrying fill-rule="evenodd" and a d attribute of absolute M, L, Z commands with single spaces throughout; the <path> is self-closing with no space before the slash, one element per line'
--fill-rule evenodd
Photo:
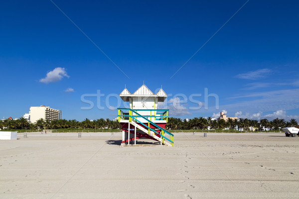
<path fill-rule="evenodd" d="M 122 110 L 129 110 L 129 115 L 125 114 Z M 137 109 L 137 110 L 147 110 L 147 109 Z M 124 119 L 125 116 L 129 117 L 129 122 L 132 122 L 132 119 L 135 119 L 137 122 L 139 122 L 142 126 L 144 126 L 145 128 L 149 129 L 149 131 L 151 130 L 152 132 L 154 132 L 156 135 L 160 135 L 162 137 L 163 143 L 164 143 L 164 139 L 168 140 L 171 145 L 173 146 L 173 134 L 169 133 L 167 130 L 165 130 L 164 128 L 160 127 L 159 125 L 155 124 L 154 122 L 152 122 L 151 120 L 149 120 L 148 118 L 146 118 L 145 116 L 139 114 L 137 112 L 137 110 L 133 110 L 131 108 L 118 108 L 118 120 L 120 121 L 120 119 Z M 154 111 L 159 111 L 162 110 L 164 111 L 163 113 L 160 113 L 162 116 L 149 116 L 149 117 L 162 117 L 163 119 L 166 118 L 166 120 L 168 119 L 168 109 L 153 109 Z M 150 110 L 151 111 L 151 110 Z M 133 113 L 135 113 L 136 115 L 133 115 Z M 144 124 L 143 122 L 139 121 L 137 119 L 137 117 L 141 117 L 143 119 L 145 119 L 146 121 L 148 121 L 148 126 L 146 124 Z M 148 116 L 147 116 L 148 117 Z M 155 126 L 156 128 L 161 130 L 161 133 L 157 133 L 155 130 L 153 130 L 152 128 L 149 127 L 149 124 L 152 124 L 153 126 Z M 170 139 L 168 139 L 167 137 L 165 137 L 165 134 L 170 135 Z"/>

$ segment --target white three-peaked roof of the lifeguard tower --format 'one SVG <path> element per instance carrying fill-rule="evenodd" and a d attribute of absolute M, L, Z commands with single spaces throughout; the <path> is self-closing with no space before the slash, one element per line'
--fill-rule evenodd
<path fill-rule="evenodd" d="M 142 85 L 136 92 L 131 94 L 128 89 L 124 89 L 124 91 L 120 94 L 120 97 L 124 101 L 129 101 L 130 98 L 144 98 L 144 97 L 152 97 L 157 98 L 158 101 L 164 101 L 167 98 L 167 94 L 161 88 L 157 94 L 153 94 L 146 85 Z"/>

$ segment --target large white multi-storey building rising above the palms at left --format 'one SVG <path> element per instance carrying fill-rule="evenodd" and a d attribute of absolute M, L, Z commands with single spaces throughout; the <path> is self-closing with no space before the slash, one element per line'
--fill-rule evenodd
<path fill-rule="evenodd" d="M 30 111 L 30 122 L 35 123 L 38 119 L 48 119 L 50 121 L 61 119 L 62 111 L 50 108 L 50 106 L 31 106 Z"/>

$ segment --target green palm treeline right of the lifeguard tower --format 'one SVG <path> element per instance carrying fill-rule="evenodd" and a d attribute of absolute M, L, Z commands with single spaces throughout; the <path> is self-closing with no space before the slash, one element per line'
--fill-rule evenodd
<path fill-rule="evenodd" d="M 203 117 L 195 117 L 187 121 L 186 119 L 181 120 L 180 118 L 169 117 L 168 122 L 166 124 L 167 129 L 179 129 L 179 130 L 189 130 L 189 129 L 235 129 L 238 130 L 243 128 L 243 130 L 255 130 L 259 131 L 267 129 L 267 130 L 278 130 L 279 128 L 296 126 L 298 122 L 296 119 L 291 119 L 290 121 L 285 121 L 285 119 L 276 118 L 272 121 L 268 119 L 254 120 L 247 118 L 240 119 L 231 119 L 228 118 L 227 121 L 224 119 L 220 120 L 212 120 L 211 117 L 203 118 Z M 238 129 L 237 129 L 238 127 Z"/>

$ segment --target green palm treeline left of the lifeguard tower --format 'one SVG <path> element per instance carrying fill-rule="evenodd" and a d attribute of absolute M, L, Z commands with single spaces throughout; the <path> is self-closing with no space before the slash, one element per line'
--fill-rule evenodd
<path fill-rule="evenodd" d="M 40 129 L 64 129 L 64 128 L 94 128 L 94 129 L 118 129 L 121 127 L 121 124 L 118 121 L 113 121 L 110 119 L 96 119 L 89 120 L 85 119 L 83 121 L 77 121 L 75 119 L 66 120 L 59 119 L 50 121 L 48 119 L 39 119 L 34 124 L 29 123 L 25 118 L 20 117 L 19 119 L 5 119 L 0 120 L 0 129 L 31 129 L 31 130 L 40 130 Z"/>

